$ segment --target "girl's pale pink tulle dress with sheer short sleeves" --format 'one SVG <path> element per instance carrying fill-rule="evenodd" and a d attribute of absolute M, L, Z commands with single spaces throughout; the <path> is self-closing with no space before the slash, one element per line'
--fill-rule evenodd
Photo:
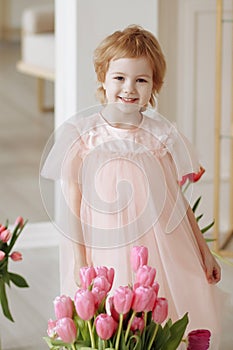
<path fill-rule="evenodd" d="M 188 140 L 157 113 L 144 114 L 134 129 L 115 128 L 100 113 L 65 123 L 42 169 L 42 176 L 61 179 L 62 214 L 82 227 L 77 234 L 62 215 L 60 230 L 71 238 L 62 245 L 62 291 L 73 297 L 76 290 L 72 240 L 85 244 L 89 265 L 115 268 L 113 288 L 133 281 L 130 250 L 145 245 L 169 316 L 176 320 L 188 312 L 188 330 L 210 329 L 211 349 L 218 349 L 219 290 L 206 280 L 178 184 L 199 168 Z M 68 181 L 80 186 L 80 215 L 70 213 Z"/>

